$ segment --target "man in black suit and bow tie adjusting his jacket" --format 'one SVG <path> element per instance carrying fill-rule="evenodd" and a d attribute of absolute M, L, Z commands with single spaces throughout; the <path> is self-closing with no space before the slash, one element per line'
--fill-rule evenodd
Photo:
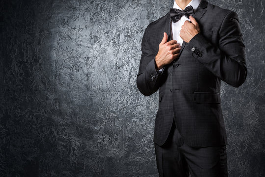
<path fill-rule="evenodd" d="M 227 177 L 220 84 L 246 79 L 238 15 L 206 0 L 175 0 L 142 39 L 137 87 L 159 89 L 154 146 L 160 177 Z"/>

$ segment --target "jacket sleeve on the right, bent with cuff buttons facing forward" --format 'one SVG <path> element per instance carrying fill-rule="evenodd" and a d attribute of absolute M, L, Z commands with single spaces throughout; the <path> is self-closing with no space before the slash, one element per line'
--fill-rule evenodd
<path fill-rule="evenodd" d="M 228 13 L 220 27 L 219 45 L 215 46 L 201 33 L 185 49 L 215 76 L 233 87 L 242 85 L 247 76 L 246 51 L 236 12 Z"/>

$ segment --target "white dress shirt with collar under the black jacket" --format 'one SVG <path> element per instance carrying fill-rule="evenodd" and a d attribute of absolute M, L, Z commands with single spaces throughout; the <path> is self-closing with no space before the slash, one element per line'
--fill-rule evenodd
<path fill-rule="evenodd" d="M 194 12 L 196 12 L 196 10 L 197 10 L 197 8 L 198 8 L 200 2 L 201 2 L 201 0 L 191 0 L 191 1 L 185 6 L 185 8 L 186 8 L 187 6 L 190 6 L 190 5 L 191 5 L 191 6 L 193 7 L 193 9 L 194 9 Z M 174 6 L 173 6 L 173 8 L 176 8 L 176 9 L 179 9 L 179 10 L 184 10 L 184 9 L 181 9 L 181 8 L 177 5 L 177 3 L 176 3 L 175 0 L 174 0 Z M 185 15 L 183 15 L 183 16 L 181 17 L 180 20 L 178 20 L 178 21 L 175 22 L 175 23 L 172 21 L 172 23 L 171 23 L 171 39 L 176 40 L 177 43 L 180 44 L 180 46 L 182 46 L 182 43 L 183 43 L 183 40 L 182 40 L 182 38 L 180 37 L 180 30 L 181 30 L 181 26 L 184 24 L 184 22 L 185 22 L 186 20 L 190 21 L 189 18 L 187 18 Z M 160 70 L 157 70 L 157 73 L 158 73 L 158 74 L 162 74 L 162 71 L 163 71 L 163 70 L 164 70 L 164 67 L 163 67 L 162 69 L 160 69 Z"/>

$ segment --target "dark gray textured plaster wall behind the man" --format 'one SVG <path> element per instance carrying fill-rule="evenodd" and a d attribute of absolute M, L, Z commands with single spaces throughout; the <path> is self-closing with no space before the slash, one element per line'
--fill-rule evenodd
<path fill-rule="evenodd" d="M 248 77 L 222 86 L 230 177 L 265 176 L 264 0 L 240 17 Z M 158 94 L 135 79 L 146 26 L 173 0 L 0 1 L 0 176 L 158 177 Z"/>

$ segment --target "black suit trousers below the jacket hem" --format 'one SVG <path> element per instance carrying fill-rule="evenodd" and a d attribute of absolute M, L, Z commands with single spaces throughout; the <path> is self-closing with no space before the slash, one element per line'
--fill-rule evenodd
<path fill-rule="evenodd" d="M 173 121 L 165 144 L 154 144 L 159 177 L 227 177 L 226 146 L 191 147 Z"/>

